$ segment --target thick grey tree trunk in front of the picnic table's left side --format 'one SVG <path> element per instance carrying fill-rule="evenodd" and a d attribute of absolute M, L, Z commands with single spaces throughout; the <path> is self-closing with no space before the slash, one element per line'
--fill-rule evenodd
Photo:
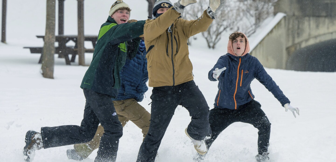
<path fill-rule="evenodd" d="M 47 0 L 47 16 L 43 46 L 42 75 L 53 79 L 55 54 L 55 10 L 56 0 Z"/>

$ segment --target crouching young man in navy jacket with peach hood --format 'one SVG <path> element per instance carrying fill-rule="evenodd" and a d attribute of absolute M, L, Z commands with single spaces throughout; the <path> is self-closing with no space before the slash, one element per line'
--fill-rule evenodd
<path fill-rule="evenodd" d="M 221 56 L 209 71 L 209 80 L 218 80 L 219 83 L 214 108 L 210 110 L 209 115 L 212 137 L 205 143 L 209 149 L 220 132 L 234 122 L 249 123 L 259 130 L 256 160 L 263 162 L 269 159 L 267 149 L 271 123 L 261 110 L 260 103 L 254 100 L 250 87 L 252 80 L 254 78 L 259 80 L 286 111 L 293 112 L 294 117 L 296 117 L 294 112 L 298 115 L 300 112 L 298 108 L 290 105 L 289 99 L 267 74 L 259 60 L 248 53 L 249 51 L 250 45 L 245 34 L 235 32 L 229 37 L 227 54 Z"/>

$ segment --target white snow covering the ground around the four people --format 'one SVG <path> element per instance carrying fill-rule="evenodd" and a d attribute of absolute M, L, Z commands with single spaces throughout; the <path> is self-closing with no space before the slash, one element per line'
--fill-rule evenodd
<path fill-rule="evenodd" d="M 177 1 L 177 0 L 175 0 Z M 172 1 L 172 2 L 175 2 Z M 144 0 L 125 0 L 131 18 L 145 19 Z M 43 78 L 39 55 L 30 54 L 24 46 L 42 46 L 36 35 L 44 35 L 45 1 L 7 1 L 7 44 L 0 43 L 0 161 L 23 162 L 24 138 L 28 130 L 41 126 L 80 124 L 85 98 L 80 83 L 87 66 L 65 65 L 55 57 L 55 79 Z M 107 18 L 112 1 L 85 1 L 85 34 L 97 34 Z M 77 1 L 65 1 L 65 34 L 77 32 Z M 138 7 L 142 6 L 142 8 Z M 57 25 L 56 25 L 57 26 Z M 57 29 L 56 29 L 57 31 Z M 227 41 L 224 38 L 224 42 Z M 250 39 L 250 42 L 253 41 Z M 203 92 L 210 108 L 217 93 L 216 82 L 207 78 L 208 70 L 226 53 L 227 42 L 209 50 L 201 39 L 190 46 L 195 82 Z M 89 64 L 92 54 L 86 54 Z M 290 99 L 300 108 L 294 118 L 257 80 L 252 82 L 255 99 L 272 123 L 269 146 L 271 162 L 333 162 L 336 161 L 336 72 L 298 72 L 279 69 L 266 71 Z M 151 90 L 140 104 L 150 111 Z M 191 162 L 193 145 L 184 133 L 190 122 L 188 112 L 178 107 L 162 140 L 158 162 Z M 214 142 L 205 158 L 207 162 L 251 162 L 257 154 L 257 129 L 246 123 L 234 123 Z M 118 162 L 135 162 L 142 142 L 141 130 L 129 122 L 120 139 Z M 34 162 L 74 162 L 66 150 L 73 146 L 42 149 Z M 93 162 L 94 151 L 84 162 Z"/>

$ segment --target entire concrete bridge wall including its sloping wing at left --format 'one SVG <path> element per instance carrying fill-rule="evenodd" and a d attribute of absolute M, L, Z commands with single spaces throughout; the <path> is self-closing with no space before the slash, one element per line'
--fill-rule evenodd
<path fill-rule="evenodd" d="M 299 50 L 336 39 L 336 0 L 278 0 L 274 10 L 287 16 L 251 51 L 265 67 L 288 69 Z"/>

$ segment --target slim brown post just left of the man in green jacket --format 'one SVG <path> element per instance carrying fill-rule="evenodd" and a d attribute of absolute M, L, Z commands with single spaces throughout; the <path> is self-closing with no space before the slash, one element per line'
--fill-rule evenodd
<path fill-rule="evenodd" d="M 84 66 L 84 0 L 77 0 L 78 3 L 78 38 L 77 38 L 77 49 L 78 49 L 78 64 Z"/>

